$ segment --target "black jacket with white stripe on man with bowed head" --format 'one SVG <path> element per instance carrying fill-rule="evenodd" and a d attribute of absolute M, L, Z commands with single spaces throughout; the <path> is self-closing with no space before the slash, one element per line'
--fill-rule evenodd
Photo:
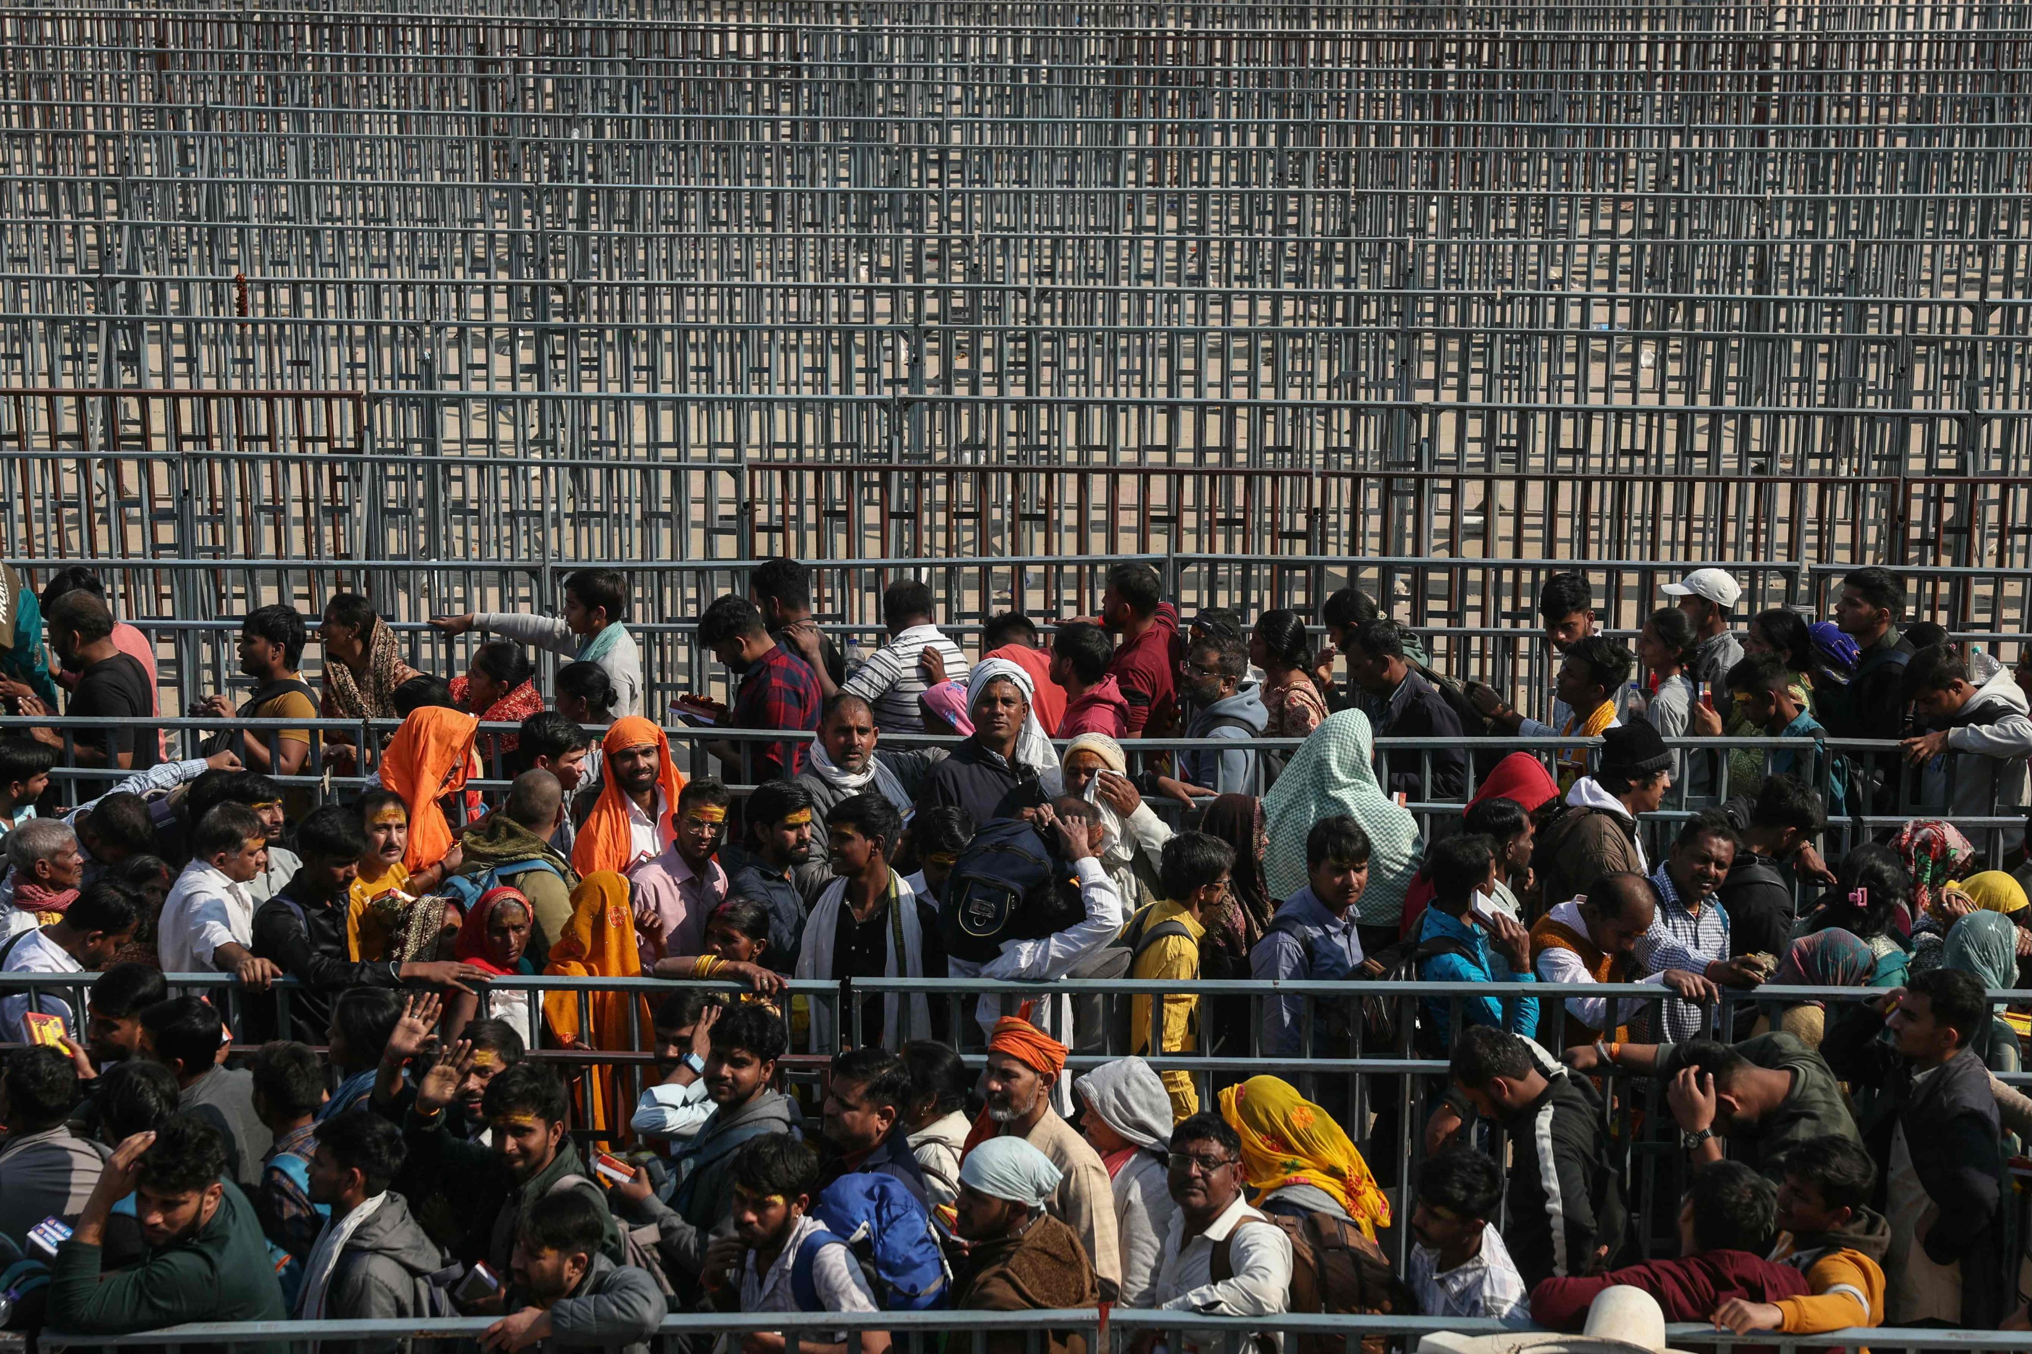
<path fill-rule="evenodd" d="M 1504 1242 L 1526 1289 L 1587 1273 L 1603 1246 L 1613 1265 L 1628 1222 L 1593 1090 L 1565 1072 L 1546 1082 L 1542 1096 L 1504 1121 L 1512 1149 Z"/>

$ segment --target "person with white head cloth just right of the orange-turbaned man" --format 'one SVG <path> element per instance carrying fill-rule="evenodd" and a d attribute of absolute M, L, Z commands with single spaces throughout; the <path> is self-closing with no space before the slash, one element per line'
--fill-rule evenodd
<path fill-rule="evenodd" d="M 1073 1080 L 1081 1129 L 1116 1186 L 1124 1307 L 1148 1307 L 1164 1265 L 1164 1234 L 1179 1210 L 1166 1181 L 1170 1094 L 1142 1058 L 1118 1058 Z"/>

